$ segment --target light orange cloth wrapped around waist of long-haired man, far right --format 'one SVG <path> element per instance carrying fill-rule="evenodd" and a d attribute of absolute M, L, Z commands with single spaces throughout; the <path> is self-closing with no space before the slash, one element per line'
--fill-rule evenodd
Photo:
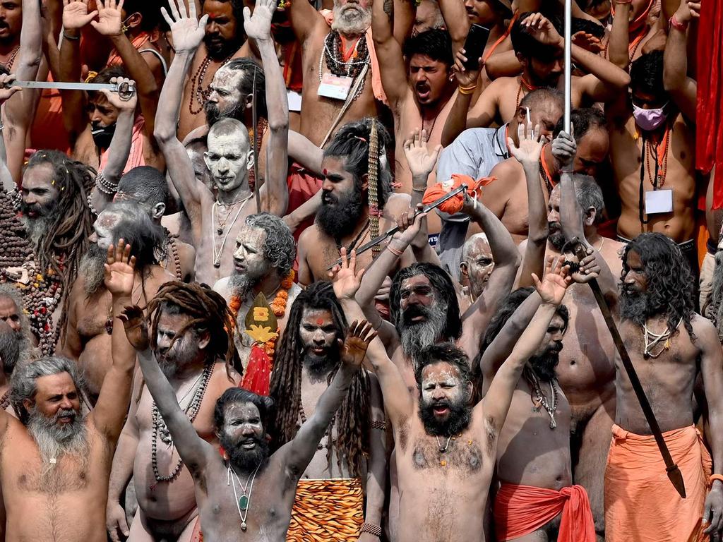
<path fill-rule="evenodd" d="M 685 481 L 681 499 L 665 472 L 652 435 L 612 426 L 605 469 L 606 542 L 708 540 L 701 529 L 711 456 L 695 426 L 663 433 Z"/>

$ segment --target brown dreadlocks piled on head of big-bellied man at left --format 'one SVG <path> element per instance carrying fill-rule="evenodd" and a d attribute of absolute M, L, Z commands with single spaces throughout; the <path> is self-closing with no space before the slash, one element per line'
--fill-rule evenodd
<path fill-rule="evenodd" d="M 159 288 L 155 297 L 146 307 L 147 318 L 150 321 L 150 345 L 158 348 L 157 331 L 161 312 L 167 307 L 177 307 L 182 314 L 188 314 L 191 319 L 176 332 L 169 348 L 184 333 L 191 329 L 207 331 L 210 335 L 208 343 L 208 359 L 215 361 L 223 358 L 226 361 L 226 374 L 231 379 L 231 367 L 236 365 L 236 348 L 234 347 L 234 317 L 228 309 L 226 300 L 221 294 L 211 290 L 206 284 L 181 283 L 171 280 Z"/>

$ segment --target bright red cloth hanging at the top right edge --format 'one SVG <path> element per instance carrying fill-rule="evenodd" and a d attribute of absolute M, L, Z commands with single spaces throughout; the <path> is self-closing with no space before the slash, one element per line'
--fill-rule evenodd
<path fill-rule="evenodd" d="M 723 207 L 723 0 L 701 4 L 698 20 L 698 104 L 696 107 L 696 168 L 713 179 L 713 208 Z M 703 59 L 706 59 L 703 61 Z"/>

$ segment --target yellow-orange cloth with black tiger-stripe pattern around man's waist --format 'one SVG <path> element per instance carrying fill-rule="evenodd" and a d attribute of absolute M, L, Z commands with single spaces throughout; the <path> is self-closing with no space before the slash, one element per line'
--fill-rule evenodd
<path fill-rule="evenodd" d="M 363 522 L 359 478 L 299 480 L 286 542 L 353 542 Z"/>

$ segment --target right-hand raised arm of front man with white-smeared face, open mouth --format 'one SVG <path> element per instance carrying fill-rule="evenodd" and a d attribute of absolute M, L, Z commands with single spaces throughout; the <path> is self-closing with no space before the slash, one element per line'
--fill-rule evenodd
<path fill-rule="evenodd" d="M 533 319 L 522 333 L 520 340 L 517 341 L 510 356 L 495 374 L 495 378 L 489 384 L 487 395 L 475 407 L 475 410 L 482 410 L 489 430 L 495 434 L 499 434 L 505 423 L 512 402 L 512 394 L 520 379 L 522 369 L 530 356 L 539 348 L 540 342 L 547 332 L 547 327 L 549 327 L 549 322 L 555 316 L 555 311 L 562 303 L 562 298 L 565 297 L 565 291 L 571 282 L 567 276 L 567 270 L 567 267 L 562 267 L 562 258 L 557 259 L 553 269 L 552 257 L 549 257 L 542 282 L 537 275 L 534 275 L 535 288 L 542 298 L 542 304 L 536 310 Z"/>

